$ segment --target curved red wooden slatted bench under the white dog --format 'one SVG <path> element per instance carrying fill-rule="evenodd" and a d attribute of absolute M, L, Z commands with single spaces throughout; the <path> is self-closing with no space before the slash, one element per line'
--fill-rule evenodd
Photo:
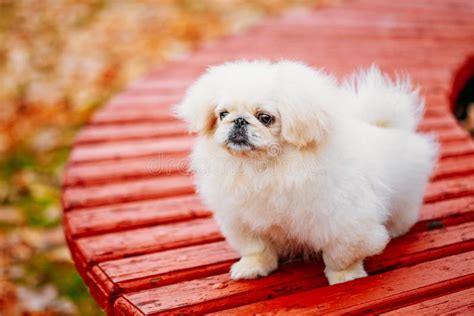
<path fill-rule="evenodd" d="M 474 314 L 474 141 L 451 114 L 474 74 L 472 0 L 345 1 L 268 19 L 132 83 L 77 137 L 65 171 L 74 262 L 110 314 L 261 312 Z M 341 76 L 375 62 L 409 72 L 441 158 L 420 222 L 367 260 L 370 276 L 329 287 L 320 263 L 231 281 L 237 259 L 186 173 L 193 138 L 170 112 L 209 64 L 301 59 Z"/>

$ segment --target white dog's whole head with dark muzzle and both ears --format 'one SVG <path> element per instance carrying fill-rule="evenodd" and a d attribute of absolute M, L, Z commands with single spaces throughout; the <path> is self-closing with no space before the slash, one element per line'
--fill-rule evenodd
<path fill-rule="evenodd" d="M 201 76 L 177 110 L 191 131 L 231 154 L 275 156 L 286 144 L 323 138 L 329 123 L 321 103 L 332 84 L 300 63 L 234 62 Z"/>

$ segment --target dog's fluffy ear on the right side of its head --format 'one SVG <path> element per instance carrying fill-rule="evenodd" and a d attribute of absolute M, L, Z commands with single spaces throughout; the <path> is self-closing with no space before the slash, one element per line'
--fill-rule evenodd
<path fill-rule="evenodd" d="M 337 96 L 335 80 L 299 62 L 283 61 L 277 67 L 282 139 L 298 148 L 321 142 L 330 129 L 326 109 Z"/>

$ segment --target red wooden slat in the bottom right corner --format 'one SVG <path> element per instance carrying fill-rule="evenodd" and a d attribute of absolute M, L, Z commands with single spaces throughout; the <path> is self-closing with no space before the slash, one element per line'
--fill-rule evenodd
<path fill-rule="evenodd" d="M 445 294 L 440 297 L 405 306 L 387 313 L 385 316 L 404 315 L 474 315 L 474 288 Z"/>

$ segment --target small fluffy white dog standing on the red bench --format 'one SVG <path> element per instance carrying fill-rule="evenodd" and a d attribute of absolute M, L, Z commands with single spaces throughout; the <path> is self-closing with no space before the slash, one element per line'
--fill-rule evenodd
<path fill-rule="evenodd" d="M 423 99 L 376 67 L 345 84 L 302 63 L 211 67 L 177 106 L 199 137 L 196 184 L 241 255 L 233 279 L 322 252 L 330 284 L 417 221 L 437 145 L 415 129 Z"/>

